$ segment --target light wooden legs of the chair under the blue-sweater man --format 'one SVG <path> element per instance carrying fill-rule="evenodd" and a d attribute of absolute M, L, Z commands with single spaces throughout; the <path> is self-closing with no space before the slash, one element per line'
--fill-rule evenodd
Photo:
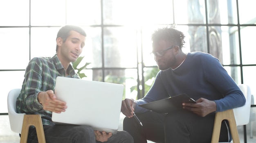
<path fill-rule="evenodd" d="M 234 112 L 233 112 L 232 109 L 216 113 L 215 120 L 214 120 L 213 134 L 212 134 L 212 138 L 211 138 L 211 143 L 219 143 L 221 122 L 224 119 L 229 121 L 229 128 L 230 128 L 230 131 L 231 131 L 231 136 L 232 136 L 232 139 L 233 139 L 233 143 L 240 143 L 240 140 L 239 140 L 239 137 L 238 137 L 238 131 L 237 131 L 237 127 L 236 127 L 236 119 L 234 117 Z"/>

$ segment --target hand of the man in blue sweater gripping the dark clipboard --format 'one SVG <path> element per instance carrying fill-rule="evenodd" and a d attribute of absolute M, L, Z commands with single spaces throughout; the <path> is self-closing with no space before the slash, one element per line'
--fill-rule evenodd
<path fill-rule="evenodd" d="M 217 110 L 216 102 L 207 100 L 205 98 L 199 98 L 197 103 L 182 103 L 184 109 L 189 110 L 201 117 L 208 115 L 209 113 Z"/>

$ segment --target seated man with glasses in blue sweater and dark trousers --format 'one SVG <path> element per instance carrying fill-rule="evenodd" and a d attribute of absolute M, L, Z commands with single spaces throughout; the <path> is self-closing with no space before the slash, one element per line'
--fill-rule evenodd
<path fill-rule="evenodd" d="M 144 98 L 122 101 L 124 130 L 134 143 L 210 143 L 215 113 L 243 106 L 242 91 L 217 58 L 203 52 L 182 52 L 184 34 L 173 26 L 156 30 L 152 41 L 160 71 Z M 182 103 L 183 109 L 168 114 L 138 106 L 182 93 L 197 103 Z M 131 118 L 133 111 L 143 126 Z M 231 140 L 227 121 L 222 121 L 220 133 L 220 141 Z"/>

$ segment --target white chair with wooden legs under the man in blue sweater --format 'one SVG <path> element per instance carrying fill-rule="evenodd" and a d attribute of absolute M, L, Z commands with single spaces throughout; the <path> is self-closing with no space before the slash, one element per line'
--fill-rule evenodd
<path fill-rule="evenodd" d="M 245 95 L 246 103 L 244 106 L 216 113 L 211 143 L 219 142 L 220 126 L 221 126 L 221 122 L 224 119 L 229 121 L 233 143 L 240 143 L 237 126 L 246 125 L 249 123 L 252 94 L 251 94 L 251 89 L 248 85 L 241 84 L 241 85 L 238 85 L 238 87 L 241 89 L 241 91 Z"/>

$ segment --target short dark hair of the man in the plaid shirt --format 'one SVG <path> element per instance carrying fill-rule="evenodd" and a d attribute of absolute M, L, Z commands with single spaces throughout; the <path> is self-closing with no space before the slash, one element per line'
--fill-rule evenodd
<path fill-rule="evenodd" d="M 83 30 L 83 28 L 79 27 L 79 26 L 74 26 L 74 25 L 65 25 L 62 26 L 61 29 L 58 31 L 56 40 L 61 37 L 61 39 L 63 39 L 63 42 L 65 42 L 67 40 L 67 37 L 70 36 L 70 31 L 76 31 L 79 32 L 81 35 L 86 37 L 86 33 Z M 56 45 L 56 52 L 58 50 L 58 45 Z"/>

